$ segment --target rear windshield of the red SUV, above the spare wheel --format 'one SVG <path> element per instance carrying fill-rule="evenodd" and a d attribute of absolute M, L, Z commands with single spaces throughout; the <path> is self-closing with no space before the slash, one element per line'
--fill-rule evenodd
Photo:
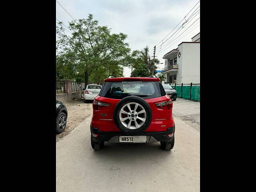
<path fill-rule="evenodd" d="M 127 96 L 139 96 L 144 99 L 164 96 L 159 82 L 105 82 L 100 96 L 122 99 Z"/>

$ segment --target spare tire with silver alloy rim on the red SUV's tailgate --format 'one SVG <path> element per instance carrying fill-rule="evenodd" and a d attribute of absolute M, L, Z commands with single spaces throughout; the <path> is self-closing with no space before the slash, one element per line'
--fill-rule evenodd
<path fill-rule="evenodd" d="M 116 126 L 126 134 L 144 132 L 151 123 L 152 112 L 149 104 L 138 96 L 120 100 L 114 110 Z"/>

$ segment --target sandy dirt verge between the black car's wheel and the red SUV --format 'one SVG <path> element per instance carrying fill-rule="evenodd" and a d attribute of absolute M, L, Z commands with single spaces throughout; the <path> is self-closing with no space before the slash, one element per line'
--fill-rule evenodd
<path fill-rule="evenodd" d="M 76 126 L 78 126 L 83 120 L 92 114 L 92 101 L 84 103 L 84 100 L 80 99 L 63 103 L 68 109 L 67 126 L 61 134 L 56 134 L 56 142 L 69 134 L 74 128 L 76 128 Z"/>

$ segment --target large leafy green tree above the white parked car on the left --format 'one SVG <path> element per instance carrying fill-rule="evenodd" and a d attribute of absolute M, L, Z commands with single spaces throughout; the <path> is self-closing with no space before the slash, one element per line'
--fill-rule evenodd
<path fill-rule="evenodd" d="M 99 26 L 92 14 L 87 19 L 69 22 L 68 29 L 71 35 L 66 34 L 62 22 L 56 27 L 59 38 L 56 42 L 56 66 L 60 63 L 72 66 L 72 72 L 67 72 L 69 76 L 78 73 L 94 79 L 104 74 L 106 78 L 109 72 L 120 74 L 123 66 L 129 66 L 130 48 L 124 42 L 126 34 L 111 34 L 111 29 Z"/>

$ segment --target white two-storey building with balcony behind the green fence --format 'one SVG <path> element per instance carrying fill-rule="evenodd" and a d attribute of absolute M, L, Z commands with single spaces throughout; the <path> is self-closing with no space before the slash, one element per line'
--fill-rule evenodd
<path fill-rule="evenodd" d="M 200 83 L 200 33 L 163 57 L 167 83 Z"/>

